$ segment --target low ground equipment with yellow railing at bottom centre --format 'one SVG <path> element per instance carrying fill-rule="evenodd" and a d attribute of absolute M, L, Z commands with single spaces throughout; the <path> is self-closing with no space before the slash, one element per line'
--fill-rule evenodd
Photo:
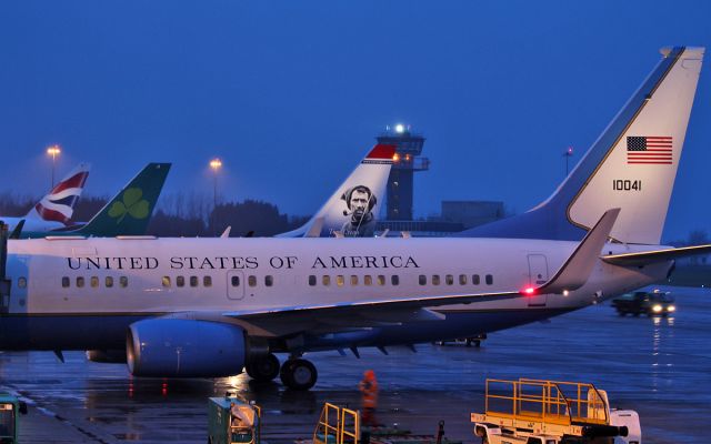
<path fill-rule="evenodd" d="M 300 444 L 303 444 L 300 442 Z M 360 412 L 326 403 L 313 431 L 312 444 L 462 444 L 444 437 L 444 422 L 437 435 L 414 435 L 408 430 L 361 427 Z"/>

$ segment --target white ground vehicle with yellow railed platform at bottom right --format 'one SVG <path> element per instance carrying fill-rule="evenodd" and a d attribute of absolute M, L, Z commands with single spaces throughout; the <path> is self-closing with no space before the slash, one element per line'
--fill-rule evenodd
<path fill-rule="evenodd" d="M 577 382 L 487 380 L 485 413 L 472 413 L 485 444 L 641 444 L 639 415 Z"/>

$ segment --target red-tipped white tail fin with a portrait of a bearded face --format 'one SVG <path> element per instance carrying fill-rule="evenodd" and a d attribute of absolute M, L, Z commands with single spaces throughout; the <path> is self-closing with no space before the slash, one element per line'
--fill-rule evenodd
<path fill-rule="evenodd" d="M 373 147 L 309 222 L 278 238 L 372 238 L 394 153 L 395 145 Z"/>

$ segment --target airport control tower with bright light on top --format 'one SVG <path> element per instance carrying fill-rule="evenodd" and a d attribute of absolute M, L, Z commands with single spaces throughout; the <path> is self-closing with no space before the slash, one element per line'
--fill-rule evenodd
<path fill-rule="evenodd" d="M 412 221 L 413 175 L 415 171 L 430 169 L 430 160 L 422 158 L 424 138 L 412 134 L 410 127 L 401 123 L 378 137 L 378 143 L 395 145 L 394 163 L 388 178 L 389 221 Z"/>

